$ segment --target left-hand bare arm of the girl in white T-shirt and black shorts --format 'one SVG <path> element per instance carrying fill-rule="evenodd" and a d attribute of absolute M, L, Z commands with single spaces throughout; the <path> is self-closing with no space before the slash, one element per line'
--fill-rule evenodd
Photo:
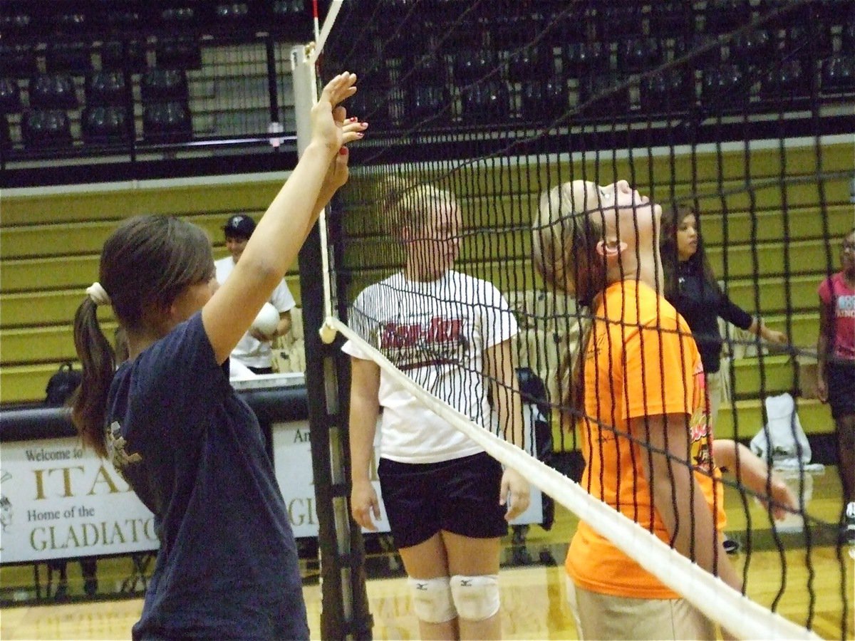
<path fill-rule="evenodd" d="M 351 358 L 351 515 L 360 526 L 376 530 L 380 518 L 374 486 L 371 485 L 371 457 L 379 414 L 380 368 L 374 361 Z"/>

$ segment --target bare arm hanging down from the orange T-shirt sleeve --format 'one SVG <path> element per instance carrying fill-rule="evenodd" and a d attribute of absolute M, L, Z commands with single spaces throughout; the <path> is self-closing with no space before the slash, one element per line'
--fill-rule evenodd
<path fill-rule="evenodd" d="M 652 485 L 652 502 L 667 528 L 675 550 L 716 574 L 736 590 L 742 579 L 716 537 L 716 523 L 690 464 L 687 415 L 654 415 L 630 420 L 634 433 L 646 434 L 651 450 L 641 456 Z"/>

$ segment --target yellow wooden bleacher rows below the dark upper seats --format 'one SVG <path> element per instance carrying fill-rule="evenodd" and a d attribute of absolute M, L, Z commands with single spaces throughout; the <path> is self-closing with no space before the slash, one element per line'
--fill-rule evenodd
<path fill-rule="evenodd" d="M 812 153 L 810 146 L 799 148 L 800 153 Z M 823 150 L 824 166 L 831 171 L 845 171 L 851 167 L 853 145 L 845 142 L 828 145 Z M 793 156 L 798 157 L 796 150 Z M 727 167 L 734 166 L 738 175 L 743 166 L 740 152 L 726 157 Z M 768 165 L 769 163 L 766 163 Z M 758 152 L 758 165 L 763 166 L 763 153 Z M 703 167 L 703 163 L 699 165 Z M 787 165 L 788 172 L 799 176 L 798 162 Z M 774 179 L 779 168 L 769 166 L 766 175 L 753 173 L 752 179 Z M 700 179 L 701 177 L 699 177 Z M 667 176 L 662 178 L 663 184 Z M 136 212 L 159 212 L 186 216 L 205 227 L 217 246 L 217 257 L 224 255 L 221 225 L 231 213 L 242 211 L 261 215 L 266 203 L 275 193 L 278 180 L 245 184 L 195 185 L 170 187 L 145 191 L 117 189 L 109 191 L 75 191 L 71 193 L 39 194 L 3 198 L 3 226 L 0 227 L 0 246 L 3 247 L 3 267 L 0 270 L 0 307 L 2 313 L 2 372 L 0 390 L 3 403 L 38 402 L 44 397 L 44 387 L 50 375 L 62 362 L 75 360 L 71 321 L 87 285 L 97 279 L 97 256 L 103 239 L 124 215 Z M 828 205 L 828 232 L 840 237 L 852 225 L 848 184 L 845 180 L 829 181 L 825 185 Z M 699 191 L 705 191 L 699 187 Z M 709 190 L 707 190 L 709 191 Z M 781 242 L 784 233 L 780 215 L 779 191 L 758 194 L 757 210 L 757 262 L 755 279 L 751 244 L 752 221 L 746 209 L 745 196 L 728 198 L 727 229 L 730 241 L 727 250 L 722 244 L 722 203 L 716 198 L 702 201 L 705 218 L 705 240 L 716 273 L 728 275 L 727 287 L 734 302 L 745 309 L 759 306 L 769 326 L 787 332 L 793 343 L 811 350 L 816 343 L 818 315 L 816 287 L 826 273 L 826 242 L 820 212 L 817 211 L 817 185 L 802 183 L 787 191 L 790 240 Z M 461 195 L 464 220 L 469 225 L 489 228 L 495 226 L 498 212 L 485 209 L 475 199 Z M 486 197 L 480 194 L 481 198 Z M 528 194 L 528 207 L 534 205 L 536 194 Z M 346 224 L 364 234 L 365 244 L 355 256 L 347 256 L 346 266 L 354 268 L 353 290 L 358 291 L 385 273 L 372 261 L 369 250 L 372 243 L 382 243 L 376 221 L 370 216 L 367 203 L 354 204 Z M 510 203 L 509 203 L 510 205 Z M 361 215 L 362 214 L 362 215 Z M 491 220 L 491 218 L 493 220 Z M 522 274 L 528 269 L 530 237 L 526 232 L 510 233 L 508 243 L 493 243 L 496 248 L 512 248 L 511 256 L 493 256 L 486 244 L 477 237 L 470 245 L 464 244 L 461 268 L 475 275 L 491 279 L 512 295 L 511 284 L 519 287 Z M 71 248 L 71 249 L 70 249 Z M 784 250 L 787 251 L 784 251 Z M 725 258 L 727 269 L 725 269 Z M 507 260 L 507 259 L 510 259 Z M 783 262 L 788 260 L 787 271 L 791 278 L 781 279 Z M 509 268 L 519 267 L 519 278 L 510 275 Z M 299 279 L 296 265 L 289 286 L 299 296 Z M 538 283 L 529 284 L 537 289 Z M 787 302 L 787 297 L 789 301 Z M 299 298 L 298 298 L 299 300 Z M 787 317 L 787 303 L 791 314 Z M 113 326 L 109 310 L 103 311 L 105 328 Z M 546 337 L 543 337 L 544 340 Z M 722 406 L 719 433 L 733 433 L 739 421 L 738 434 L 750 438 L 762 425 L 762 399 L 760 370 L 757 358 L 733 361 L 734 401 L 739 416 L 734 416 L 730 405 Z M 790 356 L 766 356 L 762 381 L 769 393 L 799 391 L 797 383 L 799 364 Z M 804 376 L 804 370 L 802 375 Z M 805 431 L 809 434 L 828 433 L 833 422 L 828 409 L 815 400 L 805 398 L 799 402 L 799 414 Z M 562 440 L 557 438 L 556 443 Z M 569 445 L 569 444 L 568 444 Z"/>

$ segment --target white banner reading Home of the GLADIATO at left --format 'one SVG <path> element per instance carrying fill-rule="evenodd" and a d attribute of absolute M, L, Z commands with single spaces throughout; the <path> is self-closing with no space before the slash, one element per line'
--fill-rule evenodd
<path fill-rule="evenodd" d="M 156 550 L 154 516 L 78 438 L 3 443 L 0 562 Z"/>

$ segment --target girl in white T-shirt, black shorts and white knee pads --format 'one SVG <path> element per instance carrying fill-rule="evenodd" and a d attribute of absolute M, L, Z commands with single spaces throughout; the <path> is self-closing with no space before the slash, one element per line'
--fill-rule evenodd
<path fill-rule="evenodd" d="M 404 269 L 357 297 L 351 326 L 419 385 L 486 427 L 489 391 L 500 433 L 522 444 L 510 342 L 516 321 L 493 285 L 451 269 L 457 203 L 427 185 L 390 179 L 386 186 L 392 195 L 384 215 L 404 247 Z M 352 356 L 354 520 L 375 530 L 380 517 L 369 462 L 382 407 L 380 489 L 422 638 L 499 638 L 500 537 L 507 520 L 528 507 L 528 484 L 389 379 L 357 344 L 343 349 Z"/>

